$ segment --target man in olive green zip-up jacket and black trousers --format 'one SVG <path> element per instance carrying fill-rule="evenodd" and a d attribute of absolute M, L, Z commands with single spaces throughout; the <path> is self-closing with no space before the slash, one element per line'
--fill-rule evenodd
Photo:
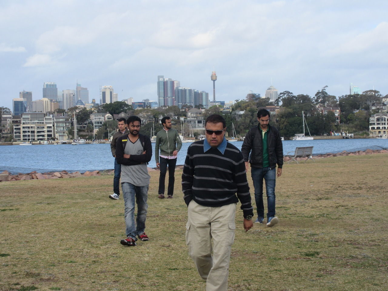
<path fill-rule="evenodd" d="M 180 148 L 182 147 L 182 141 L 180 140 L 178 131 L 171 128 L 172 125 L 170 116 L 163 117 L 161 123 L 163 125 L 163 129 L 159 130 L 159 132 L 156 134 L 155 161 L 156 166 L 160 169 L 158 197 L 163 199 L 165 197 L 165 178 L 167 173 L 167 166 L 167 198 L 172 198 L 174 194 L 175 166 L 177 165 L 177 156 Z"/>

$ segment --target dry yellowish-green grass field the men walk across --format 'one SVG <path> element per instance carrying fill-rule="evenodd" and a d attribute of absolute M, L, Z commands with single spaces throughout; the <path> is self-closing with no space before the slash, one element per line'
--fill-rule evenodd
<path fill-rule="evenodd" d="M 387 161 L 284 165 L 279 224 L 244 232 L 237 206 L 229 290 L 387 290 Z M 175 198 L 158 199 L 159 172 L 151 173 L 150 241 L 136 247 L 120 244 L 124 207 L 122 197 L 108 199 L 113 176 L 1 182 L 0 290 L 204 290 L 185 244 L 181 174 Z"/>

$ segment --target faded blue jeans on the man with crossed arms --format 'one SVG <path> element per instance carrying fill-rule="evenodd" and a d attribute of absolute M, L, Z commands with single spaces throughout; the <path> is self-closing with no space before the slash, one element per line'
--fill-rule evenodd
<path fill-rule="evenodd" d="M 147 217 L 147 186 L 135 186 L 128 182 L 121 183 L 124 197 L 124 219 L 126 225 L 126 236 L 137 241 L 136 236 L 142 234 L 145 229 L 145 218 Z M 137 204 L 137 215 L 135 224 L 135 198 Z"/>

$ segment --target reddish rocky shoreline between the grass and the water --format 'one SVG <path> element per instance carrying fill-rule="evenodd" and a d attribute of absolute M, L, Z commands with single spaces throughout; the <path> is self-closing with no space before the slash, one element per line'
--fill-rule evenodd
<path fill-rule="evenodd" d="M 327 154 L 319 154 L 316 156 L 312 156 L 312 158 L 315 159 L 322 159 L 322 158 L 332 158 L 332 157 L 339 157 L 339 156 L 364 156 L 367 154 L 380 154 L 380 153 L 388 153 L 388 150 L 385 149 L 379 149 L 379 150 L 372 150 L 367 149 L 365 151 L 355 151 L 355 152 L 347 152 L 342 151 L 338 153 L 327 153 Z M 307 158 L 296 158 L 297 161 L 305 161 Z M 284 157 L 284 162 L 291 161 L 291 157 Z M 182 169 L 183 165 L 177 165 L 177 169 Z M 148 168 L 148 171 L 158 171 L 158 168 Z M 107 170 L 104 171 L 107 175 L 113 175 L 114 170 Z M 36 171 L 33 171 L 31 173 L 22 174 L 18 173 L 16 175 L 13 175 L 9 173 L 9 171 L 5 170 L 2 173 L 0 173 L 0 182 L 7 182 L 7 181 L 24 181 L 24 180 L 43 180 L 43 179 L 59 179 L 59 178 L 78 178 L 78 177 L 95 177 L 95 176 L 101 176 L 100 171 L 86 171 L 85 173 L 80 173 L 79 171 L 69 173 L 67 171 L 60 171 L 60 172 L 47 172 L 47 173 L 38 173 Z"/>

